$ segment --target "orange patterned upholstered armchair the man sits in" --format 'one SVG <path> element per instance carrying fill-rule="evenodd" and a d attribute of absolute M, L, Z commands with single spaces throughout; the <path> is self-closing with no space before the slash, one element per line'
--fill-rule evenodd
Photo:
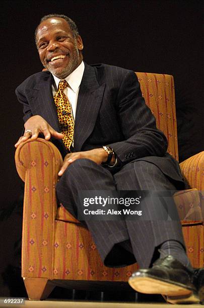
<path fill-rule="evenodd" d="M 168 152 L 178 160 L 173 77 L 137 72 L 143 96 L 168 139 Z M 16 167 L 25 182 L 22 277 L 30 299 L 46 298 L 66 280 L 70 288 L 107 283 L 127 285 L 137 264 L 123 268 L 103 265 L 89 231 L 61 205 L 55 185 L 62 164 L 58 149 L 49 141 L 27 140 L 16 150 Z M 188 190 L 174 196 L 186 244 L 194 267 L 203 267 L 204 152 L 180 164 Z M 99 283 L 100 282 L 100 283 Z"/>

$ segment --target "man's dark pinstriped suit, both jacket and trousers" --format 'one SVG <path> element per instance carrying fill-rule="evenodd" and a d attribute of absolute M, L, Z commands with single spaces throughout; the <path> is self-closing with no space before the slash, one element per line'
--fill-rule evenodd
<path fill-rule="evenodd" d="M 39 72 L 25 80 L 16 94 L 24 105 L 25 121 L 40 115 L 60 131 L 52 83 L 50 72 Z M 52 138 L 52 142 L 64 157 L 62 141 Z M 119 167 L 110 172 L 90 160 L 80 159 L 70 165 L 57 184 L 58 199 L 73 215 L 77 215 L 79 190 L 183 188 L 179 166 L 166 154 L 166 138 L 156 128 L 134 72 L 106 64 L 85 64 L 77 103 L 74 151 L 105 144 L 113 147 Z M 177 221 L 87 221 L 86 224 L 109 266 L 134 261 L 132 255 L 121 254 L 120 247 L 115 245 L 126 240 L 130 240 L 134 257 L 142 267 L 150 265 L 155 247 L 164 241 L 171 239 L 183 244 Z"/>

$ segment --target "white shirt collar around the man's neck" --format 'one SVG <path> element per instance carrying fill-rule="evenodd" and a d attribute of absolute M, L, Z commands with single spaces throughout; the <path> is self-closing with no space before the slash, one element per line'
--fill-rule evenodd
<path fill-rule="evenodd" d="M 82 63 L 69 75 L 65 78 L 65 81 L 69 84 L 70 88 L 77 93 L 79 86 L 82 82 L 82 77 L 84 74 L 84 62 L 82 61 Z M 52 74 L 53 75 L 53 74 Z M 55 84 L 56 84 L 56 88 L 58 89 L 58 85 L 60 82 L 60 78 L 56 77 L 53 75 Z"/>

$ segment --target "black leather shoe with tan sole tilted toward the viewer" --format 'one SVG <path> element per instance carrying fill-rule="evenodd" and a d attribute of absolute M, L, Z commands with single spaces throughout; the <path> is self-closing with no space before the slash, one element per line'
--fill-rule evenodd
<path fill-rule="evenodd" d="M 192 271 L 169 255 L 152 268 L 134 272 L 128 282 L 138 292 L 162 294 L 171 303 L 196 303 L 199 299 L 192 277 Z"/>

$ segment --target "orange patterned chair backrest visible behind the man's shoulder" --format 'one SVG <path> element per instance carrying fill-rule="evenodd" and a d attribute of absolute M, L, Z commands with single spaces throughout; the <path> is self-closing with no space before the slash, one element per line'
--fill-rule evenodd
<path fill-rule="evenodd" d="M 168 152 L 178 161 L 176 107 L 173 76 L 135 72 L 146 104 L 152 110 L 157 127 L 168 140 Z"/>

